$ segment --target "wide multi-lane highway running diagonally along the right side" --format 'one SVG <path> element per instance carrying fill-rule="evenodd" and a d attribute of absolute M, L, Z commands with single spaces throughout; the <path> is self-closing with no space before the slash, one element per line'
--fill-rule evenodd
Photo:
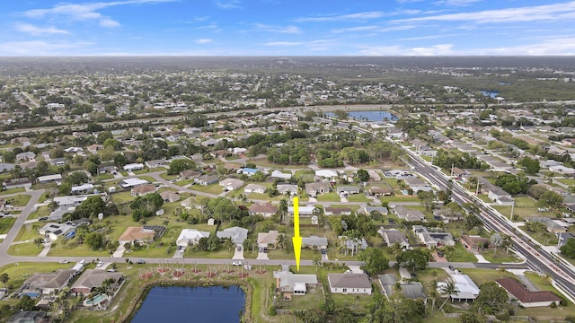
<path fill-rule="evenodd" d="M 565 265 L 558 261 L 548 251 L 538 248 L 535 243 L 523 232 L 517 231 L 509 220 L 493 210 L 489 205 L 485 205 L 477 196 L 471 195 L 467 190 L 457 183 L 449 183 L 449 178 L 441 170 L 429 165 L 420 156 L 411 152 L 408 148 L 403 148 L 407 153 L 407 162 L 415 172 L 439 189 L 447 189 L 449 186 L 453 192 L 452 198 L 457 203 L 472 203 L 480 210 L 478 216 L 482 219 L 485 228 L 489 231 L 498 231 L 509 235 L 513 241 L 513 248 L 526 258 L 526 265 L 536 272 L 552 275 L 555 284 L 561 287 L 562 292 L 575 299 L 575 271 L 572 266 Z"/>

